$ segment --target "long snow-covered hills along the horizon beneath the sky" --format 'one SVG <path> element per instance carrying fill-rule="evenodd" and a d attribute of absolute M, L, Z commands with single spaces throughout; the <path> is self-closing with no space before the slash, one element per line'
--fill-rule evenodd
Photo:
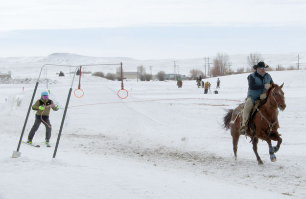
<path fill-rule="evenodd" d="M 230 55 L 230 68 L 236 70 L 241 67 L 248 67 L 248 54 Z M 264 62 L 270 67 L 276 67 L 282 64 L 283 67 L 297 66 L 298 53 L 288 54 L 262 54 Z M 213 62 L 214 57 L 209 57 L 209 63 Z M 165 73 L 174 73 L 174 61 L 176 63 L 176 73 L 189 75 L 191 69 L 200 69 L 205 72 L 204 57 L 190 59 L 151 59 L 137 60 L 129 57 L 94 57 L 78 55 L 73 53 L 52 53 L 46 57 L 0 57 L 0 71 L 11 70 L 12 72 L 18 67 L 29 69 L 39 69 L 46 63 L 62 65 L 82 65 L 82 64 L 116 64 L 123 63 L 123 70 L 126 72 L 137 71 L 138 66 L 144 66 L 146 73 L 157 74 L 159 71 Z M 306 52 L 299 53 L 300 69 L 306 69 Z M 211 64 L 212 66 L 212 64 Z M 91 72 L 102 71 L 104 73 L 115 73 L 118 66 L 88 67 Z M 208 59 L 206 58 L 206 73 L 208 74 Z"/>

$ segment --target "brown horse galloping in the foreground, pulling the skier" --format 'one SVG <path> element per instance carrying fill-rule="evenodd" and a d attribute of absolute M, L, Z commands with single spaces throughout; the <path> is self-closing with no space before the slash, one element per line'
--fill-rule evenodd
<path fill-rule="evenodd" d="M 286 108 L 282 86 L 283 83 L 281 86 L 271 84 L 271 87 L 265 93 L 267 97 L 259 101 L 259 103 L 255 103 L 255 107 L 253 108 L 250 116 L 247 136 L 251 137 L 250 142 L 253 144 L 253 150 L 257 157 L 258 164 L 263 164 L 257 152 L 257 144 L 259 139 L 268 143 L 270 160 L 272 162 L 276 161 L 276 156 L 274 153 L 280 149 L 282 144 L 282 138 L 277 131 L 279 128 L 278 108 L 281 111 Z M 239 104 L 235 110 L 229 109 L 223 118 L 224 129 L 228 130 L 231 128 L 235 159 L 237 158 L 237 145 L 240 136 L 238 129 L 242 121 L 241 109 L 243 106 L 244 103 Z M 271 140 L 277 141 L 277 145 L 275 147 L 272 147 Z"/>

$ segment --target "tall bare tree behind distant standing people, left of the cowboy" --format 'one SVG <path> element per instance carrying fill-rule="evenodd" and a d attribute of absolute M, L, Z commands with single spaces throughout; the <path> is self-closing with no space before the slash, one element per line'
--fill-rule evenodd
<path fill-rule="evenodd" d="M 230 62 L 230 56 L 227 53 L 218 52 L 213 59 L 213 68 L 211 70 L 213 76 L 222 76 L 226 74 L 227 65 Z"/>

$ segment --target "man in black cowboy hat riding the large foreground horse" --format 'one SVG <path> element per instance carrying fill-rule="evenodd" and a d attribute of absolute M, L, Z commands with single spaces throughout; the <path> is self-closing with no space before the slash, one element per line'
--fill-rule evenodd
<path fill-rule="evenodd" d="M 253 66 L 256 71 L 248 76 L 249 88 L 242 111 L 242 124 L 239 128 L 240 135 L 246 135 L 246 124 L 255 101 L 265 99 L 265 92 L 273 83 L 271 75 L 265 72 L 268 67 L 269 66 L 266 66 L 263 61 L 260 61 L 257 65 Z"/>

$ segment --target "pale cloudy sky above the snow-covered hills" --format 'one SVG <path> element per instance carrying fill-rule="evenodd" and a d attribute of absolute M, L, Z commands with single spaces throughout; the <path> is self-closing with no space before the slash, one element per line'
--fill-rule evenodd
<path fill-rule="evenodd" d="M 0 5 L 0 56 L 302 52 L 305 9 L 305 0 L 6 1 Z"/>

